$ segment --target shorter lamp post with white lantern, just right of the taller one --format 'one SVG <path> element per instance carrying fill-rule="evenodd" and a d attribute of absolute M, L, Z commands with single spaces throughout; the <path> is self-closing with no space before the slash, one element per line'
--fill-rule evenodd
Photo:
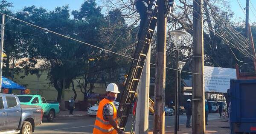
<path fill-rule="evenodd" d="M 186 63 L 183 62 L 183 61 L 179 61 L 178 62 L 178 70 L 179 70 L 179 86 L 178 86 L 178 90 L 179 90 L 179 93 L 178 93 L 178 122 L 177 122 L 177 131 L 179 131 L 179 126 L 180 126 L 180 92 L 181 92 L 181 88 L 180 88 L 180 84 L 181 84 L 181 70 L 183 68 L 183 66 L 185 65 Z"/>

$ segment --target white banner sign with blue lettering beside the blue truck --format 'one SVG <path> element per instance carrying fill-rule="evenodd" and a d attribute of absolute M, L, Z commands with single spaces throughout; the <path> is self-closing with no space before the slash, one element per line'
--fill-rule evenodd
<path fill-rule="evenodd" d="M 204 66 L 205 91 L 226 93 L 231 79 L 236 79 L 236 69 Z"/>

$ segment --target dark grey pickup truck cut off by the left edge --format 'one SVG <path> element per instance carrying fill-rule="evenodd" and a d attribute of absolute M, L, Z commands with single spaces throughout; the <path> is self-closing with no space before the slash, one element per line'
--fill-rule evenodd
<path fill-rule="evenodd" d="M 0 134 L 32 134 L 42 118 L 41 106 L 20 105 L 16 95 L 0 93 Z"/>

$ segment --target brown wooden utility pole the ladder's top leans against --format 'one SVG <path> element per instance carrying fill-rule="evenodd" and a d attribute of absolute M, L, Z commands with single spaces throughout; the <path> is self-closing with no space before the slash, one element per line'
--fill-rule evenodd
<path fill-rule="evenodd" d="M 165 1 L 159 0 L 157 13 L 157 63 L 154 88 L 154 131 L 153 134 L 164 134 L 164 105 L 166 82 L 166 15 Z"/>

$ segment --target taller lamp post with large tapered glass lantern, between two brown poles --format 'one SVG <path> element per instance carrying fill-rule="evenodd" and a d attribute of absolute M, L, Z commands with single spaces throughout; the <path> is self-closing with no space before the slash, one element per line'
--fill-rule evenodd
<path fill-rule="evenodd" d="M 169 32 L 172 42 L 174 43 L 174 46 L 176 48 L 176 90 L 175 90 L 175 129 L 174 129 L 174 134 L 177 134 L 177 118 L 179 114 L 178 110 L 178 76 L 179 76 L 179 66 L 178 66 L 178 61 L 179 61 L 179 47 L 184 40 L 187 32 L 186 31 L 181 31 L 181 30 L 174 30 Z"/>

